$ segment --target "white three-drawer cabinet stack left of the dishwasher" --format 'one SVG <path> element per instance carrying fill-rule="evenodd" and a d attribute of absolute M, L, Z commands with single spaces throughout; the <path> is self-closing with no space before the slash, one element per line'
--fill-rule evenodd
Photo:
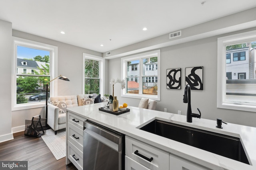
<path fill-rule="evenodd" d="M 83 169 L 83 130 L 86 119 L 67 111 L 66 164 L 72 162 Z"/>

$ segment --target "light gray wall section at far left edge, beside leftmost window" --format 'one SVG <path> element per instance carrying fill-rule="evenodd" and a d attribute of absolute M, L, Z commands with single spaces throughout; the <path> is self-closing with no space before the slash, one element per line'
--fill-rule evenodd
<path fill-rule="evenodd" d="M 11 113 L 11 67 L 12 67 L 12 23 L 0 20 L 0 141 L 12 136 Z"/>

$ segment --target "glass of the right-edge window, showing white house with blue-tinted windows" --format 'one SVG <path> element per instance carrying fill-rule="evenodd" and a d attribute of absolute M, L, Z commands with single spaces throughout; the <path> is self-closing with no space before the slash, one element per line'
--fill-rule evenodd
<path fill-rule="evenodd" d="M 256 97 L 256 90 L 252 88 L 256 86 L 256 41 L 226 46 L 226 61 L 230 53 L 236 62 L 226 64 L 226 101 L 252 102 L 252 97 Z"/>

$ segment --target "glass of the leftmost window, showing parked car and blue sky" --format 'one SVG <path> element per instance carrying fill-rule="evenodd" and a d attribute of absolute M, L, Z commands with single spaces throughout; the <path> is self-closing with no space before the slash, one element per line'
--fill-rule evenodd
<path fill-rule="evenodd" d="M 17 46 L 16 52 L 16 104 L 45 101 L 46 83 L 50 81 L 50 51 Z M 26 76 L 31 74 L 46 76 Z"/>

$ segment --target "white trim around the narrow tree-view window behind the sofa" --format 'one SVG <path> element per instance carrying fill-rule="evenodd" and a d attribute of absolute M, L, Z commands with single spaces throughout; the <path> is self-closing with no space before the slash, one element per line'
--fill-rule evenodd
<path fill-rule="evenodd" d="M 105 63 L 106 63 L 106 59 L 103 59 L 100 56 L 96 56 L 96 55 L 91 55 L 91 54 L 87 54 L 87 53 L 83 53 L 83 73 L 82 73 L 82 94 L 84 94 L 84 86 L 85 86 L 85 82 L 84 82 L 84 62 L 85 59 L 90 59 L 90 60 L 96 60 L 99 61 L 99 78 L 100 78 L 100 95 L 103 96 L 105 93 L 105 76 L 104 76 L 104 70 L 105 70 Z"/>

